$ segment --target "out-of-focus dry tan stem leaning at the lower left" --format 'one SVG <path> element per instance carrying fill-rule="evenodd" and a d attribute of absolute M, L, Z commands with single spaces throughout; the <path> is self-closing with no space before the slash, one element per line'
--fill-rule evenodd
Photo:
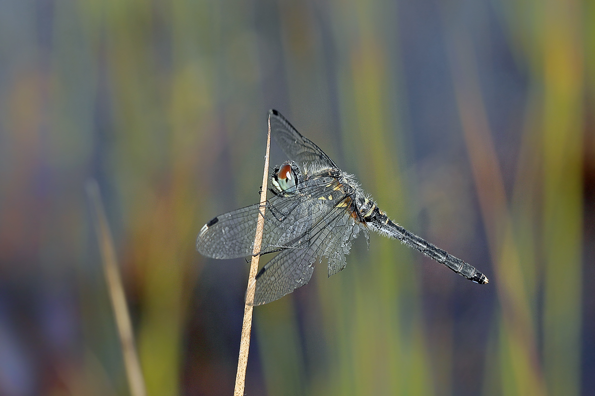
<path fill-rule="evenodd" d="M 126 305 L 126 295 L 124 294 L 122 279 L 118 271 L 114 240 L 112 239 L 107 217 L 105 216 L 104 205 L 99 194 L 99 186 L 95 180 L 91 179 L 87 181 L 86 190 L 91 207 L 93 226 L 95 226 L 99 251 L 101 252 L 103 261 L 109 299 L 114 309 L 115 323 L 118 328 L 118 336 L 120 337 L 130 395 L 145 396 L 145 379 L 140 370 L 139 356 L 134 346 L 130 313 Z"/>

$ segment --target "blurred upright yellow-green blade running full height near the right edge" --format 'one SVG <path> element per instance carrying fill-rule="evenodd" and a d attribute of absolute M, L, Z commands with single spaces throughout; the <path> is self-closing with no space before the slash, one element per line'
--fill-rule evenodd
<path fill-rule="evenodd" d="M 550 394 L 578 396 L 583 320 L 583 11 L 578 2 L 545 4 L 547 28 L 538 42 L 543 48 L 544 109 L 543 362 Z"/>

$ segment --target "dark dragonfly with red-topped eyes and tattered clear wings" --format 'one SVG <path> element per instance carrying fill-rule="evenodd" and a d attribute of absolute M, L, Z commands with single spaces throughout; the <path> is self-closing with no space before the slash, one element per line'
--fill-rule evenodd
<path fill-rule="evenodd" d="M 339 169 L 314 142 L 277 110 L 270 110 L 271 136 L 289 160 L 275 166 L 271 198 L 212 218 L 196 239 L 204 256 L 251 256 L 256 222 L 264 231 L 258 255 L 276 254 L 256 275 L 253 305 L 280 299 L 308 283 L 314 265 L 326 259 L 328 277 L 346 267 L 353 240 L 369 232 L 400 240 L 478 284 L 486 275 L 462 259 L 409 232 L 378 208 L 355 176 Z"/>

